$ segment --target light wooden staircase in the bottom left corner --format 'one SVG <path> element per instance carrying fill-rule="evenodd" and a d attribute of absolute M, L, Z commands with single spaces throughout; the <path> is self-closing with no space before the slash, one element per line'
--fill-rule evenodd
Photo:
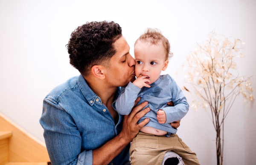
<path fill-rule="evenodd" d="M 0 165 L 47 165 L 46 146 L 0 113 Z"/>

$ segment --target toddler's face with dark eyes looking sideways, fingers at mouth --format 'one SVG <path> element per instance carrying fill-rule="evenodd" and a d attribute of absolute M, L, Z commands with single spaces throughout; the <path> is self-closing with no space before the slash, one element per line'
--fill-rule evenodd
<path fill-rule="evenodd" d="M 136 77 L 148 76 L 150 83 L 157 81 L 161 70 L 166 70 L 169 60 L 165 60 L 165 51 L 162 45 L 151 45 L 138 42 L 134 47 Z"/>

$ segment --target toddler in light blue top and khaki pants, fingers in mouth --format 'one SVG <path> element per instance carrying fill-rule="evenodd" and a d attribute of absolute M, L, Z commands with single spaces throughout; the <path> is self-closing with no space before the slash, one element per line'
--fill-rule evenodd
<path fill-rule="evenodd" d="M 177 157 L 179 165 L 183 162 L 199 165 L 196 154 L 175 134 L 177 129 L 170 125 L 182 119 L 189 110 L 189 104 L 174 79 L 168 74 L 160 75 L 168 67 L 170 55 L 168 39 L 156 29 L 148 29 L 135 42 L 137 79 L 121 88 L 115 103 L 116 111 L 128 115 L 138 97 L 140 102 L 137 105 L 148 101 L 145 108 L 149 107 L 151 111 L 138 122 L 150 119 L 131 143 L 131 165 L 167 165 L 171 157 Z M 174 106 L 167 106 L 169 101 Z"/>

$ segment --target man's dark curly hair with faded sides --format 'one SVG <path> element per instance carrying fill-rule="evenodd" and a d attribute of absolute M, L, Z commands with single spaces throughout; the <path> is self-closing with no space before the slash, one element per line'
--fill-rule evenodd
<path fill-rule="evenodd" d="M 70 64 L 81 75 L 88 76 L 94 65 L 107 66 L 116 53 L 113 43 L 122 36 L 122 28 L 115 22 L 86 22 L 72 32 L 66 45 Z"/>

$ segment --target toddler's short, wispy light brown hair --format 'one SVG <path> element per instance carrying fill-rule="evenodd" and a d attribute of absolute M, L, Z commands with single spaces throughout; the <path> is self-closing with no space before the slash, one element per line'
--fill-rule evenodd
<path fill-rule="evenodd" d="M 166 52 L 166 58 L 165 60 L 171 58 L 173 56 L 173 53 L 170 51 L 170 43 L 168 39 L 163 36 L 162 32 L 155 28 L 147 28 L 145 30 L 145 33 L 142 34 L 135 42 L 134 46 L 137 44 L 138 41 L 145 42 L 145 43 L 151 43 L 152 45 L 157 45 L 158 42 L 162 42 L 163 48 Z"/>

